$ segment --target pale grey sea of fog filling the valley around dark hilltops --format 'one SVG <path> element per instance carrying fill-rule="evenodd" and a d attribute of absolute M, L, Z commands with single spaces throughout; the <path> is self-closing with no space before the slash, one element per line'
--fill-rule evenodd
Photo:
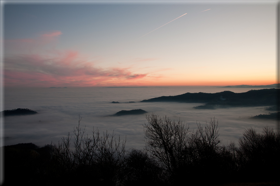
<path fill-rule="evenodd" d="M 57 144 L 68 132 L 73 136 L 73 127 L 86 128 L 90 136 L 98 129 L 100 133 L 108 131 L 121 140 L 126 138 L 126 149 L 142 149 L 145 146 L 143 124 L 146 115 L 113 115 L 120 110 L 143 109 L 151 115 L 155 113 L 172 120 L 183 120 L 190 130 L 196 130 L 197 123 L 204 125 L 211 118 L 219 122 L 219 137 L 223 144 L 231 140 L 238 144 L 238 138 L 245 129 L 252 127 L 261 132 L 266 125 L 276 129 L 276 121 L 250 119 L 251 116 L 268 113 L 268 106 L 232 107 L 216 110 L 198 110 L 194 106 L 200 103 L 178 102 L 139 102 L 159 96 L 180 95 L 187 92 L 215 93 L 233 91 L 247 92 L 252 88 L 217 88 L 217 87 L 138 87 L 138 88 L 6 88 L 5 110 L 28 108 L 38 114 L 5 117 L 5 145 L 34 143 L 44 146 L 51 142 Z M 254 88 L 254 90 L 263 88 Z M 119 103 L 111 103 L 118 101 Z M 135 103 L 129 103 L 135 101 Z M 71 143 L 71 145 L 73 142 Z"/>

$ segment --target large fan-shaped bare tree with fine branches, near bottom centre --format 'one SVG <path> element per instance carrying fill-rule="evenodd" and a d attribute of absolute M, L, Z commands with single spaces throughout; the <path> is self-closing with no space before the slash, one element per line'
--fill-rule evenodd
<path fill-rule="evenodd" d="M 184 164 L 185 149 L 189 137 L 189 126 L 179 120 L 172 121 L 169 117 L 161 118 L 152 114 L 146 116 L 144 123 L 145 149 L 157 159 L 170 173 L 175 174 Z"/>

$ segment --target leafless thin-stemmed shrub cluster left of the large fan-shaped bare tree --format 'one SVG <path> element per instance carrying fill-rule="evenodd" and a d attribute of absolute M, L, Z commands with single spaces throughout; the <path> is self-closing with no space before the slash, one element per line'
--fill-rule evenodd
<path fill-rule="evenodd" d="M 70 134 L 62 138 L 62 142 L 55 145 L 56 162 L 59 164 L 60 174 L 90 177 L 96 180 L 96 184 L 118 185 L 121 183 L 125 160 L 125 142 L 114 138 L 114 133 L 103 133 L 99 130 L 93 131 L 92 137 L 85 136 L 85 129 L 80 128 L 80 121 L 74 128 L 74 149 L 70 147 Z M 74 180 L 75 181 L 75 180 Z M 74 184 L 70 179 L 71 184 Z M 77 180 L 77 184 L 80 180 Z M 91 179 L 88 180 L 92 182 Z"/>

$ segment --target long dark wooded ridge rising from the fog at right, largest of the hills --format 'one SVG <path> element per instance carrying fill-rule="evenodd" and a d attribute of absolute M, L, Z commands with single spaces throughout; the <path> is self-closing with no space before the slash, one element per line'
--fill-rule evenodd
<path fill-rule="evenodd" d="M 173 101 L 185 103 L 206 103 L 204 108 L 218 106 L 261 106 L 276 105 L 279 89 L 251 90 L 243 93 L 223 91 L 218 93 L 185 93 L 175 96 L 161 96 L 140 102 Z M 212 105 L 212 106 L 210 106 Z M 198 107 L 199 108 L 199 107 Z M 202 109 L 202 107 L 200 107 Z"/>

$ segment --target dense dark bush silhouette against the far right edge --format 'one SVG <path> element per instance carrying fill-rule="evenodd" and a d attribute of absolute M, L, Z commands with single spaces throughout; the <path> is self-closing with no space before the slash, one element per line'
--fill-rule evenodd
<path fill-rule="evenodd" d="M 268 126 L 263 133 L 257 133 L 249 128 L 239 139 L 238 165 L 244 181 L 276 179 L 279 176 L 280 134 Z"/>

